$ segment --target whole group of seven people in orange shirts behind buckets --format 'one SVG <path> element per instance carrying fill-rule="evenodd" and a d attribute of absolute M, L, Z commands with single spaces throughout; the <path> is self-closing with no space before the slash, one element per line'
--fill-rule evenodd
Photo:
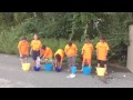
<path fill-rule="evenodd" d="M 30 51 L 29 51 L 30 48 Z M 105 42 L 104 38 L 100 39 L 100 42 L 95 46 L 96 48 L 96 59 L 98 59 L 98 67 L 101 66 L 101 62 L 103 62 L 106 72 L 106 57 L 109 51 L 109 44 Z M 75 60 L 78 56 L 78 47 L 72 41 L 69 41 L 69 43 L 64 47 L 64 49 L 58 49 L 55 53 L 53 53 L 52 49 L 47 46 L 42 46 L 41 41 L 39 40 L 38 36 L 34 34 L 33 40 L 31 41 L 31 44 L 29 44 L 27 37 L 23 37 L 21 41 L 18 43 L 19 54 L 20 59 L 22 60 L 22 63 L 28 62 L 28 57 L 32 56 L 33 58 L 33 67 L 35 67 L 35 60 L 38 57 L 40 57 L 42 60 L 48 59 L 53 60 L 53 70 L 59 67 L 62 68 L 62 61 L 64 59 L 64 56 L 68 58 L 68 71 L 70 71 L 71 67 L 75 67 Z M 91 60 L 92 60 L 92 53 L 94 51 L 93 44 L 91 43 L 90 39 L 86 39 L 83 47 L 82 47 L 82 69 L 86 63 L 89 67 L 91 67 Z"/>

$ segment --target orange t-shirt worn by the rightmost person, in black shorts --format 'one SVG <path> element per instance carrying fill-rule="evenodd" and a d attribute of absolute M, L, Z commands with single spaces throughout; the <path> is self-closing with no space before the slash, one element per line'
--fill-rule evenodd
<path fill-rule="evenodd" d="M 109 50 L 109 44 L 106 42 L 104 42 L 104 43 L 98 42 L 96 50 L 98 50 L 98 59 L 105 60 L 105 57 L 106 57 L 108 50 Z"/>

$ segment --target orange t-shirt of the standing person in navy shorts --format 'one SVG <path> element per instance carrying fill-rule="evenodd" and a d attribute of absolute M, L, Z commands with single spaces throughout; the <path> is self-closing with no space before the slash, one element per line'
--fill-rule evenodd
<path fill-rule="evenodd" d="M 32 50 L 39 51 L 41 49 L 41 47 L 42 47 L 42 43 L 41 43 L 40 40 L 32 40 L 31 41 L 31 48 L 32 48 Z"/>

